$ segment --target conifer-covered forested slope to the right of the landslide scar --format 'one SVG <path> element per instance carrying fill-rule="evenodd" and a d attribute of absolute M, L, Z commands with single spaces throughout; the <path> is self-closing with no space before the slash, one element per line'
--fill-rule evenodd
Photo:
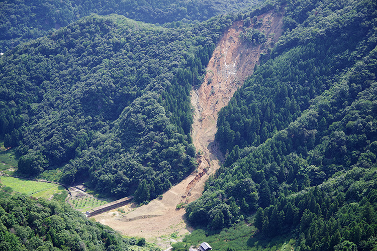
<path fill-rule="evenodd" d="M 376 3 L 286 4 L 286 33 L 271 59 L 219 113 L 227 159 L 187 218 L 221 229 L 253 215 L 260 236 L 291 234 L 299 250 L 371 250 Z"/>

